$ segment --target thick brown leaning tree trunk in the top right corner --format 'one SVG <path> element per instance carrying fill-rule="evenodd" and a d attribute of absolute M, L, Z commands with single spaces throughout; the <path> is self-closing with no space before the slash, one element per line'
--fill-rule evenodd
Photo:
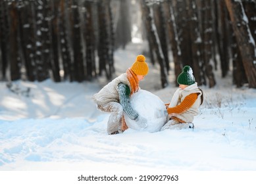
<path fill-rule="evenodd" d="M 225 0 L 242 55 L 249 87 L 256 88 L 256 48 L 241 1 Z"/>

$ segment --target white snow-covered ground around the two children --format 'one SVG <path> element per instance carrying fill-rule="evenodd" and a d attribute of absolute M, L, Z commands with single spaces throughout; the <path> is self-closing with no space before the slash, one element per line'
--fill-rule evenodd
<path fill-rule="evenodd" d="M 142 46 L 116 51 L 116 74 Z M 149 66 L 141 88 L 168 103 L 176 90 L 172 75 L 170 86 L 160 89 L 158 66 Z M 193 131 L 107 135 L 109 114 L 91 100 L 105 83 L 16 81 L 13 93 L 1 82 L 0 170 L 256 170 L 255 89 L 236 89 L 230 79 L 202 87 L 205 102 Z"/>

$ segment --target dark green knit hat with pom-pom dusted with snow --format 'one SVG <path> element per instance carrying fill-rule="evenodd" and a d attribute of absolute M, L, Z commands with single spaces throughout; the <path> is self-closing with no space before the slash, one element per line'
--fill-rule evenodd
<path fill-rule="evenodd" d="M 192 85 L 195 83 L 193 70 L 190 66 L 184 66 L 183 72 L 177 78 L 178 84 Z"/>

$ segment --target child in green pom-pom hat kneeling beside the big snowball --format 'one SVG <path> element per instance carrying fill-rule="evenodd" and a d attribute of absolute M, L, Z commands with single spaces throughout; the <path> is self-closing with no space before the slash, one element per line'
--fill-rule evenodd
<path fill-rule="evenodd" d="M 177 82 L 179 88 L 170 103 L 165 104 L 170 119 L 161 130 L 193 128 L 193 118 L 199 114 L 199 106 L 203 103 L 203 91 L 197 87 L 190 66 L 184 66 Z"/>

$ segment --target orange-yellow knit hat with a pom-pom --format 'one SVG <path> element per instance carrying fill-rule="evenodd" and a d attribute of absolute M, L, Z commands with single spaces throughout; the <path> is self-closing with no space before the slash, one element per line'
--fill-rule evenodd
<path fill-rule="evenodd" d="M 136 61 L 132 64 L 131 70 L 136 75 L 147 75 L 147 72 L 149 72 L 149 66 L 147 66 L 147 62 L 145 62 L 145 57 L 143 55 L 138 55 Z"/>

